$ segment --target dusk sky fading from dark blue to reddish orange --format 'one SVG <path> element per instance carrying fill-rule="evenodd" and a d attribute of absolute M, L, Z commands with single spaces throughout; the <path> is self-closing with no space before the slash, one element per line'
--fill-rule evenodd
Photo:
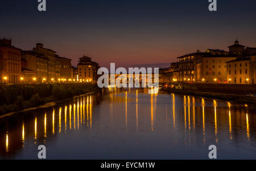
<path fill-rule="evenodd" d="M 236 38 L 256 47 L 256 1 L 37 0 L 0 2 L 0 37 L 23 50 L 43 43 L 59 56 L 92 57 L 101 66 L 166 64 L 207 48 L 228 51 Z"/>

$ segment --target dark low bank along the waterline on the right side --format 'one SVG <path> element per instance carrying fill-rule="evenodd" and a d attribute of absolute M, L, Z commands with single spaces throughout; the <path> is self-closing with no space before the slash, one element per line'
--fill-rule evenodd
<path fill-rule="evenodd" d="M 191 95 L 191 96 L 196 96 L 196 97 L 220 99 L 222 101 L 230 101 L 230 102 L 237 102 L 237 103 L 256 104 L 255 98 L 246 97 L 246 95 L 191 91 L 191 90 L 184 90 L 184 89 L 174 89 L 174 88 L 170 88 L 170 87 L 167 87 L 167 88 L 164 87 L 162 90 L 166 91 L 168 93 L 175 93 L 175 94 L 181 94 L 181 95 Z"/>

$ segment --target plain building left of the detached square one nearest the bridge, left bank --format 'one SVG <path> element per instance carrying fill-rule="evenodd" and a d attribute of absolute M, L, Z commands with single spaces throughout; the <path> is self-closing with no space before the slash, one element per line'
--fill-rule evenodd
<path fill-rule="evenodd" d="M 73 73 L 72 73 L 72 65 L 71 65 L 71 59 L 60 57 L 56 55 L 56 59 L 60 63 L 60 78 L 63 79 L 72 79 Z"/>

